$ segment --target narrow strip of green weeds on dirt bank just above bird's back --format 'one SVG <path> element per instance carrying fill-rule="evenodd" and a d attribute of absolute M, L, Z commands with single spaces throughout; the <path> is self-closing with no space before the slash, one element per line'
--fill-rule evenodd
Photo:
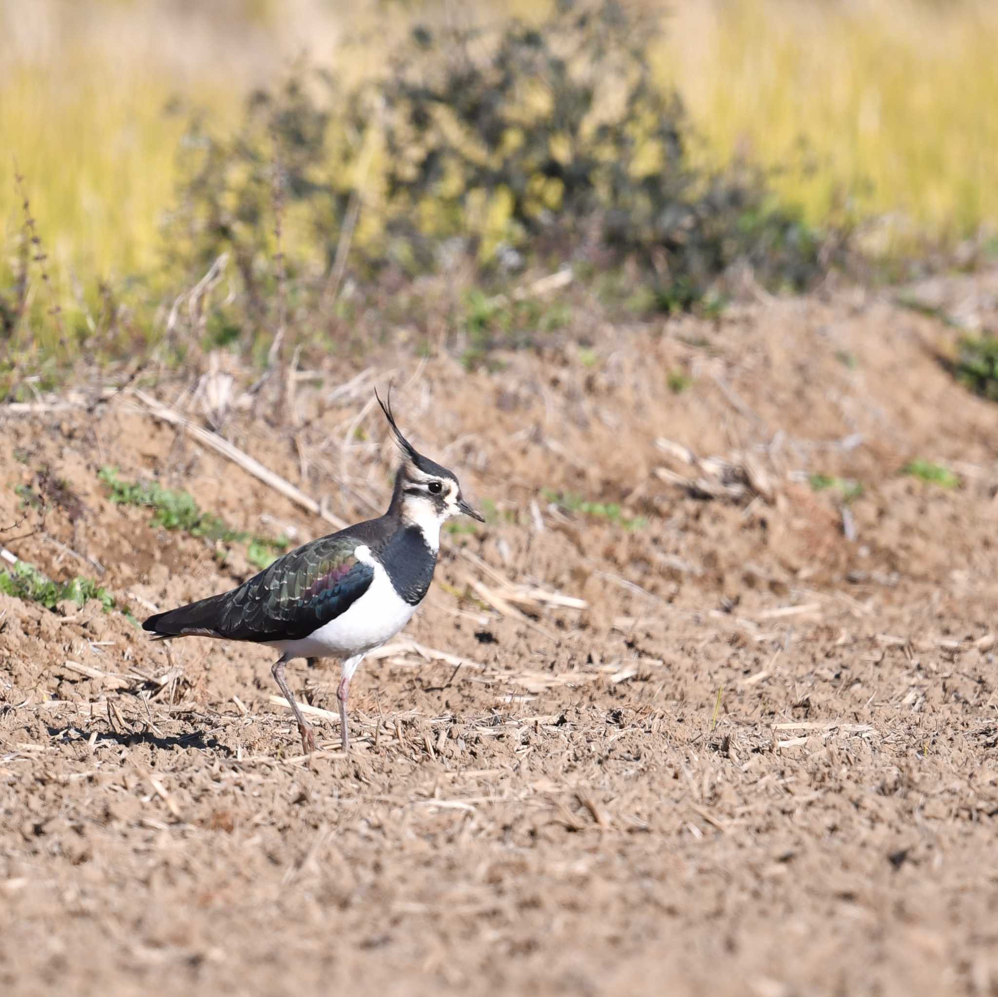
<path fill-rule="evenodd" d="M 202 511 L 188 492 L 165 489 L 157 482 L 124 482 L 116 468 L 102 468 L 98 478 L 111 490 L 110 498 L 118 505 L 152 508 L 151 526 L 181 529 L 192 536 L 222 543 L 247 543 L 247 559 L 261 570 L 276 559 L 288 545 L 286 537 L 273 539 L 242 529 L 233 529 L 212 512 Z"/>

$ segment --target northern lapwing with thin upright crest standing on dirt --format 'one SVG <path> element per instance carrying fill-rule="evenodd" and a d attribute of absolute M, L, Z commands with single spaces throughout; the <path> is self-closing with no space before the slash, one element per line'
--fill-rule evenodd
<path fill-rule="evenodd" d="M 298 722 L 305 754 L 311 726 L 284 679 L 292 658 L 342 659 L 340 737 L 349 749 L 346 702 L 364 655 L 390 640 L 423 600 L 440 546 L 440 527 L 455 515 L 484 522 L 462 497 L 452 471 L 423 457 L 402 436 L 387 403 L 374 392 L 404 460 L 388 511 L 289 551 L 239 588 L 150 616 L 155 639 L 219 637 L 265 644 L 280 652 L 273 677 Z"/>

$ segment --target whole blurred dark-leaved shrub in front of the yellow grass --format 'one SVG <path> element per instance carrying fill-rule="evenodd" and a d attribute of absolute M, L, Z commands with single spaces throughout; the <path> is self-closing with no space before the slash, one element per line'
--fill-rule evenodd
<path fill-rule="evenodd" d="M 253 95 L 235 138 L 191 129 L 174 258 L 202 273 L 231 253 L 257 315 L 285 276 L 292 294 L 327 289 L 346 246 L 362 275 L 629 258 L 679 307 L 742 261 L 804 286 L 817 240 L 766 176 L 692 165 L 681 102 L 652 78 L 655 26 L 562 2 L 536 26 L 417 28 L 351 90 L 299 69 Z"/>

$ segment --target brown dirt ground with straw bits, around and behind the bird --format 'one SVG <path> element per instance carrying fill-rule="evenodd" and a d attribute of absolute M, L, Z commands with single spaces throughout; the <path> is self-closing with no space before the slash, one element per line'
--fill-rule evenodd
<path fill-rule="evenodd" d="M 996 287 L 926 293 L 993 321 Z M 369 660 L 349 758 L 326 722 L 298 757 L 266 649 L 168 657 L 95 602 L 0 596 L 0 991 L 998 993 L 998 408 L 935 358 L 956 333 L 861 291 L 580 321 L 595 364 L 563 345 L 395 377 L 403 428 L 494 503 L 445 545 L 587 608 L 496 611 L 469 581 L 495 577 L 448 553 L 406 635 L 467 663 Z M 331 399 L 360 367 L 301 377 L 279 424 L 267 388 L 224 433 L 366 516 L 394 462 L 369 404 L 392 362 Z M 201 420 L 193 387 L 155 393 Z M 236 526 L 328 531 L 124 393 L 2 427 L 0 525 L 44 465 L 85 505 L 4 545 L 58 578 L 96 573 L 60 543 L 95 558 L 140 618 L 251 569 L 112 505 L 105 464 Z M 688 496 L 657 475 L 693 475 L 660 437 L 750 453 L 773 497 Z M 961 487 L 898 474 L 913 458 Z M 800 473 L 863 483 L 854 539 Z M 335 710 L 334 663 L 291 673 Z"/>

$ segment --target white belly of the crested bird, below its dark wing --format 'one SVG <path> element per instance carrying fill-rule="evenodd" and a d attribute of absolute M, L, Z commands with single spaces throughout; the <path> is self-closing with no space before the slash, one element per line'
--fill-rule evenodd
<path fill-rule="evenodd" d="M 270 645 L 292 658 L 342 657 L 373 650 L 390 640 L 416 611 L 392 587 L 380 564 L 363 595 L 334 620 L 300 640 L 275 640 Z"/>

